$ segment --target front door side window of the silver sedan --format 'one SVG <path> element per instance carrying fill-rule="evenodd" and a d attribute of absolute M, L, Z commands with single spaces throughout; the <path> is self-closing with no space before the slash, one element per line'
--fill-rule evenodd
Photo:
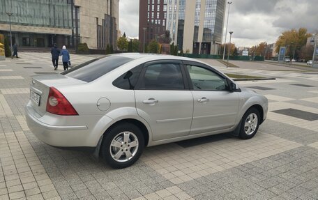
<path fill-rule="evenodd" d="M 228 89 L 227 80 L 206 68 L 187 65 L 195 91 L 224 91 Z"/>

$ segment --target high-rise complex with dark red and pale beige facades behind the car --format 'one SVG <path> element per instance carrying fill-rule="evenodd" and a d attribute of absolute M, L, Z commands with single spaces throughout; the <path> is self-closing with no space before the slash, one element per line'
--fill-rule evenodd
<path fill-rule="evenodd" d="M 149 43 L 169 30 L 183 52 L 219 54 L 224 14 L 225 0 L 140 0 L 139 39 Z"/>

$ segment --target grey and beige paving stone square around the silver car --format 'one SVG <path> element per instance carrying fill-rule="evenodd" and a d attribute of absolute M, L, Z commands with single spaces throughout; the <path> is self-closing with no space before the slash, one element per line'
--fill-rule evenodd
<path fill-rule="evenodd" d="M 268 118 L 257 135 L 153 146 L 132 167 L 114 170 L 87 153 L 47 146 L 34 137 L 24 117 L 30 76 L 56 71 L 50 53 L 20 56 L 0 62 L 1 200 L 318 199 L 318 121 L 275 112 L 318 114 L 317 72 L 264 70 L 250 63 L 248 69 L 225 68 L 211 60 L 222 72 L 276 77 L 238 82 L 268 98 Z M 97 55 L 70 56 L 76 66 Z"/>

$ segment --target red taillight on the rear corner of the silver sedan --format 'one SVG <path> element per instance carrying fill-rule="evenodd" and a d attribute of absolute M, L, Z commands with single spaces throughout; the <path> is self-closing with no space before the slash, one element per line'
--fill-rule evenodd
<path fill-rule="evenodd" d="M 50 87 L 46 111 L 59 115 L 78 115 L 65 96 L 54 87 Z"/>

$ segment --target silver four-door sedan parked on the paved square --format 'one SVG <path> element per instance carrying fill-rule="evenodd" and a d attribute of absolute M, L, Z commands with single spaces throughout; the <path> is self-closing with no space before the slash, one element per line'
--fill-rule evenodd
<path fill-rule="evenodd" d="M 145 146 L 223 132 L 250 139 L 268 101 L 195 59 L 112 54 L 31 77 L 25 109 L 41 141 L 90 148 L 120 169 L 136 162 Z"/>

